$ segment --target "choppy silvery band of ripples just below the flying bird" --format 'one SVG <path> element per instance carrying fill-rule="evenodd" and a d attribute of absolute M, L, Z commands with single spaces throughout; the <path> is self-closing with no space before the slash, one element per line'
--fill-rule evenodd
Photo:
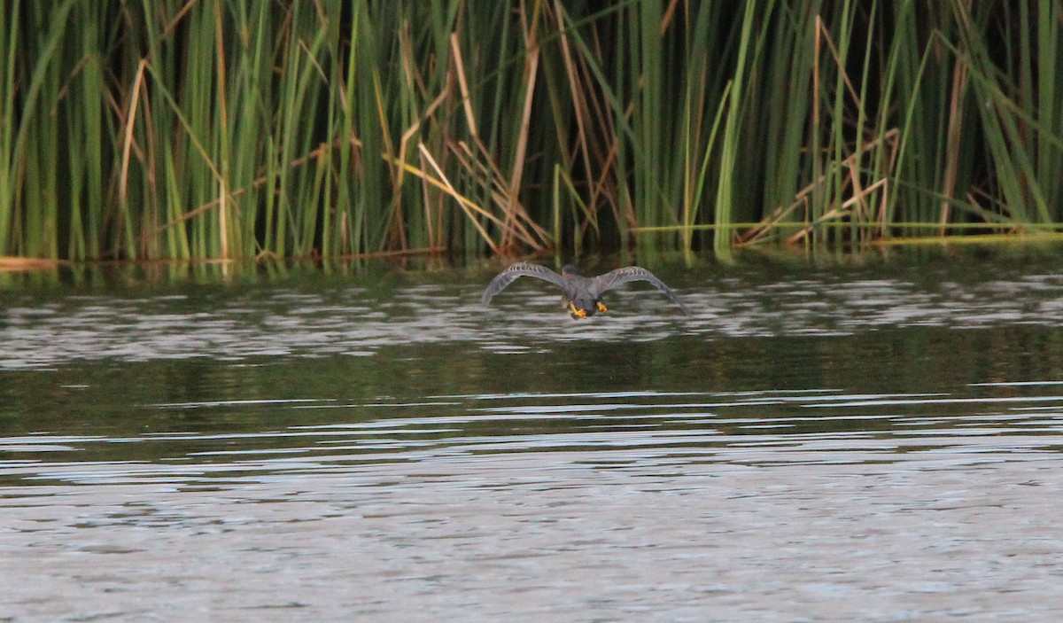
<path fill-rule="evenodd" d="M 1063 325 L 1063 279 L 1024 274 L 971 283 L 854 279 L 833 272 L 763 283 L 759 273 L 681 274 L 691 317 L 654 292 L 611 292 L 610 314 L 574 322 L 545 286 L 520 284 L 488 308 L 483 283 L 409 284 L 386 296 L 370 285 L 302 292 L 267 285 L 232 296 L 70 296 L 39 302 L 14 293 L 0 307 L 0 368 L 69 360 L 372 355 L 381 348 L 477 343 L 499 353 L 572 341 L 653 341 L 674 335 L 839 336 L 884 327 Z"/>

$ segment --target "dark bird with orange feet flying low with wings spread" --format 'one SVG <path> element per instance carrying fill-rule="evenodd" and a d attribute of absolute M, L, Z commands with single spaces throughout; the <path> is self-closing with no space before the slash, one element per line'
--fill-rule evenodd
<path fill-rule="evenodd" d="M 657 279 L 657 275 L 639 266 L 626 266 L 605 274 L 586 277 L 579 274 L 576 267 L 571 264 L 562 267 L 561 274 L 557 274 L 545 266 L 519 262 L 507 266 L 491 280 L 487 289 L 484 290 L 480 302 L 484 305 L 489 304 L 495 294 L 522 276 L 534 276 L 561 288 L 564 292 L 564 308 L 575 320 L 590 318 L 600 312 L 607 312 L 608 307 L 602 302 L 602 294 L 629 282 L 648 282 L 678 305 L 684 314 L 690 314 L 672 288 L 664 285 L 664 282 Z"/>

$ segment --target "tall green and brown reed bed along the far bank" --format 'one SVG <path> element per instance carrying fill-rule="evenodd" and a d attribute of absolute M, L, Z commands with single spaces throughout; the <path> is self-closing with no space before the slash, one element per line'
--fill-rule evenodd
<path fill-rule="evenodd" d="M 0 255 L 859 247 L 1063 223 L 1052 0 L 0 0 Z"/>

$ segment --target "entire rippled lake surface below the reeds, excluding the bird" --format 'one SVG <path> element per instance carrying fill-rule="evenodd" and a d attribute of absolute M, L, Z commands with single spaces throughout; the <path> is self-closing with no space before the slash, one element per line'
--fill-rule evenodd
<path fill-rule="evenodd" d="M 1063 255 L 429 268 L 0 275 L 0 620 L 1063 620 Z"/>

